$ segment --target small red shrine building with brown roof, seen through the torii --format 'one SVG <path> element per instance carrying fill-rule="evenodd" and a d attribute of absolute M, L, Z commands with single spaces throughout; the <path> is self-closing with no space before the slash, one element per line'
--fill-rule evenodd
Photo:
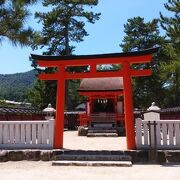
<path fill-rule="evenodd" d="M 82 79 L 78 91 L 86 97 L 86 113 L 80 125 L 124 125 L 123 89 L 122 77 Z"/>

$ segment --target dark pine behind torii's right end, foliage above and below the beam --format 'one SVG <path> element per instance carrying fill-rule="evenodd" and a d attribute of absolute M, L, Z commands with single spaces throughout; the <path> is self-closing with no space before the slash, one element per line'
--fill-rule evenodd
<path fill-rule="evenodd" d="M 161 37 L 159 33 L 157 19 L 147 23 L 141 17 L 128 19 L 127 24 L 124 25 L 124 32 L 126 35 L 120 45 L 124 52 L 140 51 L 161 46 L 164 43 L 164 37 Z M 135 107 L 147 108 L 153 101 L 163 105 L 163 85 L 165 82 L 160 77 L 160 62 L 163 61 L 163 56 L 162 51 L 160 51 L 153 57 L 151 63 L 136 64 L 132 67 L 134 69 L 152 69 L 153 71 L 150 77 L 133 79 Z"/>

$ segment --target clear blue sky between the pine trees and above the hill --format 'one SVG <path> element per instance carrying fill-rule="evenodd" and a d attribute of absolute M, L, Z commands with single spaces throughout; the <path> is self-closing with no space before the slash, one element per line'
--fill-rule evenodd
<path fill-rule="evenodd" d="M 123 25 L 127 19 L 135 16 L 150 21 L 159 17 L 161 11 L 167 14 L 163 4 L 167 0 L 99 0 L 93 11 L 100 12 L 101 18 L 95 24 L 87 24 L 89 36 L 76 45 L 75 54 L 101 54 L 121 52 L 119 44 L 124 36 Z M 39 11 L 40 6 L 33 7 Z M 37 20 L 30 21 L 33 28 L 39 28 Z M 33 52 L 30 48 L 14 47 L 7 40 L 0 45 L 0 74 L 26 72 L 32 67 L 29 62 L 30 53 L 41 54 L 41 50 Z"/>

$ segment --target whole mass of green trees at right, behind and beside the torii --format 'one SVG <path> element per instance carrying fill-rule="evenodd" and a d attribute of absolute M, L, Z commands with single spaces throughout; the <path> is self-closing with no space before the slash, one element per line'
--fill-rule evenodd
<path fill-rule="evenodd" d="M 148 107 L 152 101 L 161 107 L 179 106 L 180 102 L 180 2 L 168 0 L 165 8 L 173 13 L 166 17 L 160 13 L 160 24 L 165 37 L 159 34 L 158 20 L 144 23 L 144 19 L 135 17 L 128 20 L 125 37 L 121 47 L 123 51 L 142 50 L 157 45 L 161 50 L 154 61 L 148 65 L 135 65 L 135 69 L 150 68 L 153 75 L 134 79 L 136 107 Z"/>

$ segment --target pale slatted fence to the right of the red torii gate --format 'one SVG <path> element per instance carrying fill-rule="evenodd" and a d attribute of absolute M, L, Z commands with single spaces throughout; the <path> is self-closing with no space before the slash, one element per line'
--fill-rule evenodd
<path fill-rule="evenodd" d="M 136 119 L 137 149 L 180 149 L 180 120 Z"/>

